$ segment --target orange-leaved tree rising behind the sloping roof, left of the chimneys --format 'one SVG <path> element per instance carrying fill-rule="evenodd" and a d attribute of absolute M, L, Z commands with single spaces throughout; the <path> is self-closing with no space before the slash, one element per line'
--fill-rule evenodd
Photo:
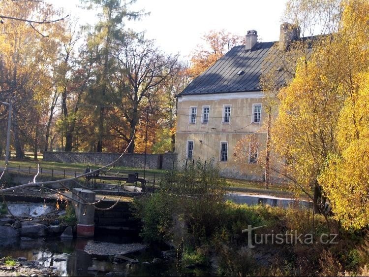
<path fill-rule="evenodd" d="M 225 30 L 210 31 L 203 35 L 205 45 L 198 45 L 191 57 L 187 74 L 193 79 L 215 64 L 233 46 L 240 45 L 243 37 L 227 33 Z"/>

